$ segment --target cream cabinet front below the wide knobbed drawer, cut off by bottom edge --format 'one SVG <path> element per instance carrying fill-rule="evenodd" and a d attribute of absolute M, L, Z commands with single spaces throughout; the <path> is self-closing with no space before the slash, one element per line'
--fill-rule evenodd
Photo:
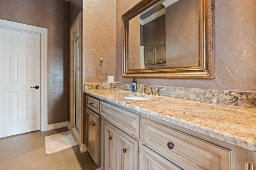
<path fill-rule="evenodd" d="M 182 170 L 148 147 L 141 147 L 141 170 Z"/>

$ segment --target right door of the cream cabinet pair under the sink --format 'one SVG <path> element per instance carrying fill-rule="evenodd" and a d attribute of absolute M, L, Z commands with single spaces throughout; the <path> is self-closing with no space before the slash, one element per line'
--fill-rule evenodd
<path fill-rule="evenodd" d="M 118 131 L 118 170 L 138 169 L 138 141 Z"/>

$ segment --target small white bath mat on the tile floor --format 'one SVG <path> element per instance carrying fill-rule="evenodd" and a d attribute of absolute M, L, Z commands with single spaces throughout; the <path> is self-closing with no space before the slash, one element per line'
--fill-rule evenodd
<path fill-rule="evenodd" d="M 58 152 L 78 145 L 71 131 L 58 133 L 45 137 L 46 154 Z"/>

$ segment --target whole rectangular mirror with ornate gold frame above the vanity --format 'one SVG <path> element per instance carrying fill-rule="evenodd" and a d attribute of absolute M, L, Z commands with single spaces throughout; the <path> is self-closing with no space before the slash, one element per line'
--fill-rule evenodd
<path fill-rule="evenodd" d="M 122 15 L 123 76 L 214 78 L 214 0 L 142 0 Z"/>

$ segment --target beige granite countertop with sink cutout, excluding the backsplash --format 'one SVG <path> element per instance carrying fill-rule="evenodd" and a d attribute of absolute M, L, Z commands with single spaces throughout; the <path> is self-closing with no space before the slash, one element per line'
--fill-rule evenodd
<path fill-rule="evenodd" d="M 167 96 L 146 95 L 151 99 L 135 102 L 122 97 L 142 96 L 142 93 L 116 88 L 84 92 L 244 149 L 256 151 L 256 109 Z"/>

